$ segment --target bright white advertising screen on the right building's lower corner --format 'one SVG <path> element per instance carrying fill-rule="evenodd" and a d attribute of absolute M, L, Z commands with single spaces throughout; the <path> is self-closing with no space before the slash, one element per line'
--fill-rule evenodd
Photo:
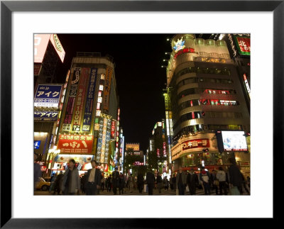
<path fill-rule="evenodd" d="M 246 137 L 244 131 L 222 131 L 224 151 L 246 151 Z"/>

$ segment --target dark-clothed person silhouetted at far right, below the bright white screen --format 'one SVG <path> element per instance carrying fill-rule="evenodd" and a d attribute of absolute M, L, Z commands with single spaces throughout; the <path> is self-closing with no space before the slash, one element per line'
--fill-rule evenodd
<path fill-rule="evenodd" d="M 243 183 L 243 177 L 241 171 L 239 167 L 236 166 L 236 160 L 234 158 L 230 157 L 229 163 L 231 164 L 229 167 L 229 184 L 231 194 L 243 194 L 243 189 L 241 187 Z M 239 193 L 236 188 L 239 190 Z"/>

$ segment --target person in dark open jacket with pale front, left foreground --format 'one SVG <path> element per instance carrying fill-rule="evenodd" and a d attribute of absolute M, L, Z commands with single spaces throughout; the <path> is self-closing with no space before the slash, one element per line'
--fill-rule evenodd
<path fill-rule="evenodd" d="M 92 169 L 87 172 L 87 177 L 85 180 L 86 195 L 97 195 L 102 184 L 102 172 L 97 169 L 97 162 L 95 160 L 91 161 Z"/>

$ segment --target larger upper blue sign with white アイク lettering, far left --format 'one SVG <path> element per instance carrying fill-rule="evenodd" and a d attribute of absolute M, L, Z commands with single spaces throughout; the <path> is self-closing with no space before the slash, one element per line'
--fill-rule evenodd
<path fill-rule="evenodd" d="M 35 92 L 35 107 L 58 108 L 62 85 L 38 84 Z"/>

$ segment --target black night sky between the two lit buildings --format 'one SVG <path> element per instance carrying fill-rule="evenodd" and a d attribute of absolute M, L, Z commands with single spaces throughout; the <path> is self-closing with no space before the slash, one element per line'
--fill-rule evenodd
<path fill-rule="evenodd" d="M 156 122 L 165 118 L 163 89 L 166 87 L 163 59 L 171 52 L 173 34 L 58 34 L 66 52 L 64 63 L 58 62 L 56 83 L 65 81 L 76 52 L 101 52 L 111 55 L 116 65 L 121 126 L 125 143 L 140 143 L 146 152 L 148 139 Z"/>

